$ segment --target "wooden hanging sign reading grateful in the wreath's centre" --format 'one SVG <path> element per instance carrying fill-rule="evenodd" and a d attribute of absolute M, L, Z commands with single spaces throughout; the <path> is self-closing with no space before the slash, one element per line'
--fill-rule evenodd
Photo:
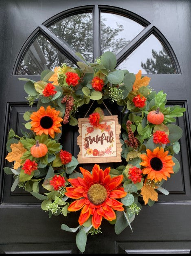
<path fill-rule="evenodd" d="M 118 116 L 105 116 L 99 127 L 93 127 L 88 118 L 78 119 L 80 152 L 79 163 L 121 162 L 121 125 Z"/>

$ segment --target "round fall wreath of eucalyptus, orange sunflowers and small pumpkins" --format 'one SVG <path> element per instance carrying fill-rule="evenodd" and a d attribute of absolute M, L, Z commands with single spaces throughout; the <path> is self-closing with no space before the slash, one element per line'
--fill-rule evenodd
<path fill-rule="evenodd" d="M 9 131 L 7 161 L 13 174 L 11 191 L 24 188 L 42 201 L 42 210 L 52 215 L 70 218 L 70 212 L 80 211 L 79 226 L 61 229 L 77 232 L 76 244 L 84 252 L 88 234 L 101 232 L 102 219 L 114 225 L 116 234 L 122 232 L 141 210 L 140 201 L 152 206 L 158 201 L 158 191 L 167 195 L 162 183 L 179 170 L 178 154 L 182 129 L 175 117 L 181 117 L 185 108 L 166 106 L 166 94 L 150 86 L 150 78 L 116 67 L 116 56 L 107 51 L 88 63 L 79 53 L 78 67 L 62 64 L 54 71 L 44 70 L 40 81 L 26 78 L 24 90 L 29 105 L 37 101 L 37 111 L 24 113 L 26 122 L 22 137 Z M 94 164 L 92 170 L 79 167 L 72 154 L 59 143 L 62 126 L 76 126 L 75 113 L 83 104 L 108 99 L 123 107 L 121 125 L 121 158 L 124 165 L 105 170 Z M 101 123 L 103 111 L 96 108 L 89 115 L 90 127 L 105 132 L 111 127 Z M 99 154 L 96 148 L 87 148 L 87 154 Z M 105 154 L 110 153 L 107 148 Z M 108 164 L 109 165 L 109 164 Z M 39 193 L 39 185 L 44 193 Z M 143 204 L 143 203 L 142 203 Z"/>

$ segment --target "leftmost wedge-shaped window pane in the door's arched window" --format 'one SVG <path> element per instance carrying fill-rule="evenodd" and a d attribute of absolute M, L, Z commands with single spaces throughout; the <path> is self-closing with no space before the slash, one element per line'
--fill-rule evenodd
<path fill-rule="evenodd" d="M 38 35 L 24 55 L 17 74 L 40 75 L 44 69 L 53 70 L 62 63 L 74 66 L 74 64 L 60 53 L 43 35 Z"/>

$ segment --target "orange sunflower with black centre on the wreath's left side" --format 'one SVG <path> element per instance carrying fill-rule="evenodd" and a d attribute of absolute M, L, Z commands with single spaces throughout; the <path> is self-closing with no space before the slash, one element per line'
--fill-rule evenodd
<path fill-rule="evenodd" d="M 55 108 L 51 108 L 50 106 L 46 110 L 41 106 L 37 112 L 31 114 L 31 130 L 36 132 L 36 135 L 42 135 L 44 133 L 54 138 L 55 132 L 61 132 L 58 127 L 61 126 L 60 122 L 63 119 L 58 116 L 59 113 L 59 110 L 55 110 Z"/>

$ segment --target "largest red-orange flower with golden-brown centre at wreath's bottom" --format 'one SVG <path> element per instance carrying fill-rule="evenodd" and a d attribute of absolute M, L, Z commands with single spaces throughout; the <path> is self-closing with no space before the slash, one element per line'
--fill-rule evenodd
<path fill-rule="evenodd" d="M 81 209 L 79 224 L 83 225 L 92 215 L 92 225 L 98 228 L 102 218 L 112 221 L 116 211 L 123 211 L 123 203 L 116 199 L 126 196 L 127 192 L 121 187 L 123 175 L 111 178 L 110 167 L 104 171 L 95 164 L 92 174 L 80 167 L 83 178 L 68 179 L 72 187 L 66 188 L 66 196 L 77 199 L 70 204 L 68 210 L 75 212 Z"/>

